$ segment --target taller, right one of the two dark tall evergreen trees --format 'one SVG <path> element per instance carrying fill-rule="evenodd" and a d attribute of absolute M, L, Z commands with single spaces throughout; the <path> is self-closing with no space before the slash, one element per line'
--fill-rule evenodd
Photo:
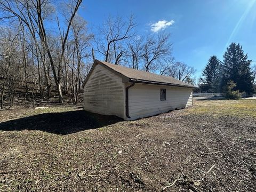
<path fill-rule="evenodd" d="M 238 43 L 231 43 L 223 55 L 222 85 L 228 81 L 236 84 L 235 90 L 253 92 L 253 74 L 250 68 L 252 60 L 244 54 L 242 46 Z"/>

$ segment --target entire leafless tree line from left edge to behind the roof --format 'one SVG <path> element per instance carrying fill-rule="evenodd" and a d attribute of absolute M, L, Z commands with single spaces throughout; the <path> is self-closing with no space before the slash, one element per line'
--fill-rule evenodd
<path fill-rule="evenodd" d="M 21 92 L 34 102 L 58 93 L 60 103 L 64 92 L 76 104 L 95 57 L 181 81 L 194 73 L 174 61 L 170 34 L 139 34 L 133 15 L 109 17 L 88 33 L 86 21 L 77 14 L 81 3 L 0 0 L 1 108 L 4 98 L 11 106 Z"/>

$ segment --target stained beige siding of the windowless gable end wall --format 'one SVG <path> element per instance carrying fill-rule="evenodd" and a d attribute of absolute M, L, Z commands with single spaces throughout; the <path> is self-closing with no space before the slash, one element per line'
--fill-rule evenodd
<path fill-rule="evenodd" d="M 84 109 L 124 118 L 124 83 L 107 68 L 96 65 L 84 86 Z"/>

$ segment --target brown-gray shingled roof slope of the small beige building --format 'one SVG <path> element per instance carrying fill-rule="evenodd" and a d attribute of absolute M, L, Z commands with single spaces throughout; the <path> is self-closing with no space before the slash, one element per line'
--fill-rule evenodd
<path fill-rule="evenodd" d="M 131 69 L 131 68 L 127 68 L 119 65 L 114 65 L 105 61 L 96 60 L 96 62 L 101 63 L 102 65 L 105 65 L 110 69 L 113 69 L 118 74 L 121 74 L 129 78 L 130 82 L 181 86 L 181 87 L 190 87 L 193 89 L 197 88 L 194 85 L 179 81 L 178 79 L 175 79 L 173 77 L 156 75 L 146 71 L 140 71 L 140 70 Z"/>

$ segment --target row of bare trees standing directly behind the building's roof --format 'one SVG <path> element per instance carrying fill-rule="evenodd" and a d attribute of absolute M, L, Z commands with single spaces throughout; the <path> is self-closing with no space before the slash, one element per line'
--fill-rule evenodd
<path fill-rule="evenodd" d="M 157 34 L 140 35 L 136 26 L 133 15 L 126 20 L 109 17 L 95 33 L 95 51 L 105 61 L 116 65 L 194 82 L 191 75 L 195 73 L 195 69 L 174 60 L 170 34 L 161 31 Z"/>

